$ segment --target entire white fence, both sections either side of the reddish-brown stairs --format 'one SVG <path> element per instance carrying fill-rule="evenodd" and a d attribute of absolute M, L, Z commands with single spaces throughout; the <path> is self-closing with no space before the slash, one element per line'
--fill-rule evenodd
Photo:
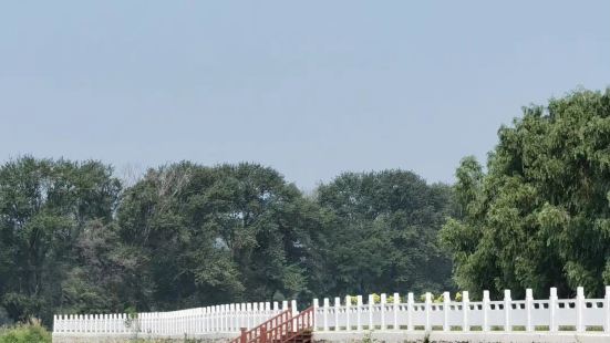
<path fill-rule="evenodd" d="M 557 289 L 550 289 L 549 299 L 534 299 L 531 290 L 525 300 L 513 300 L 505 291 L 504 300 L 492 301 L 489 292 L 482 301 L 471 301 L 468 292 L 461 301 L 452 301 L 449 293 L 442 302 L 433 302 L 432 294 L 425 294 L 424 302 L 415 302 L 409 293 L 406 302 L 400 294 L 393 294 L 387 302 L 386 294 L 375 302 L 373 295 L 363 303 L 362 295 L 345 297 L 342 302 L 334 298 L 331 304 L 324 298 L 322 305 L 313 300 L 314 331 L 317 332 L 364 332 L 364 331 L 452 331 L 492 332 L 524 331 L 549 334 L 558 331 L 597 331 L 610 341 L 610 287 L 603 299 L 586 299 L 582 288 L 577 289 L 575 299 L 558 299 Z M 355 300 L 353 299 L 355 298 Z M 278 302 L 225 304 L 174 312 L 121 314 L 55 315 L 54 335 L 138 335 L 151 337 L 205 336 L 219 333 L 238 335 L 241 328 L 251 329 L 280 312 L 292 309 L 287 301 L 281 308 Z M 601 332 L 599 332 L 601 331 Z"/>

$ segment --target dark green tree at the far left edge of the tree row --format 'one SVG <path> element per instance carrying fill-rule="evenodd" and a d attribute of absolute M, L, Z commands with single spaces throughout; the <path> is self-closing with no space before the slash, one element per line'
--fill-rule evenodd
<path fill-rule="evenodd" d="M 22 157 L 0 167 L 0 302 L 13 320 L 49 323 L 75 242 L 91 220 L 112 220 L 120 190 L 97 162 Z"/>

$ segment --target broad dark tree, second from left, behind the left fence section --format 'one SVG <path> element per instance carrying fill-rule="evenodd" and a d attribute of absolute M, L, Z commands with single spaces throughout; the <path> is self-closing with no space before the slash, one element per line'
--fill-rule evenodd
<path fill-rule="evenodd" d="M 317 215 L 271 168 L 152 169 L 118 211 L 120 236 L 143 263 L 127 287 L 138 309 L 308 294 Z"/>

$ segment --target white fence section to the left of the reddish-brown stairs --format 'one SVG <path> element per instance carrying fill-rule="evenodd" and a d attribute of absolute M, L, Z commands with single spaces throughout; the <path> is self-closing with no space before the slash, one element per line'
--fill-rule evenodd
<path fill-rule="evenodd" d="M 196 336 L 208 333 L 239 334 L 240 328 L 251 329 L 288 310 L 288 301 L 281 309 L 278 302 L 232 303 L 173 312 L 147 312 L 128 315 L 66 314 L 53 316 L 54 335 L 147 335 Z M 296 311 L 297 302 L 290 309 Z"/>

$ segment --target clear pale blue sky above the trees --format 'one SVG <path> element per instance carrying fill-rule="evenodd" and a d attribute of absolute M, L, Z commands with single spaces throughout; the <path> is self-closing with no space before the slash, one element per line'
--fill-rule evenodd
<path fill-rule="evenodd" d="M 610 86 L 610 1 L 4 1 L 0 163 L 454 180 L 521 106 Z"/>

